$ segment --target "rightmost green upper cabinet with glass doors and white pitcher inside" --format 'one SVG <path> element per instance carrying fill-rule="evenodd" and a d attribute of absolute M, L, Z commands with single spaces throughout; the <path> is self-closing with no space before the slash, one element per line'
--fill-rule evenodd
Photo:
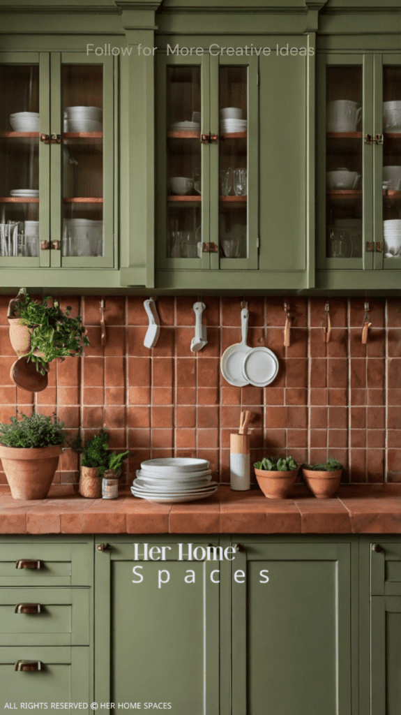
<path fill-rule="evenodd" d="M 400 287 L 401 53 L 318 66 L 317 285 Z"/>

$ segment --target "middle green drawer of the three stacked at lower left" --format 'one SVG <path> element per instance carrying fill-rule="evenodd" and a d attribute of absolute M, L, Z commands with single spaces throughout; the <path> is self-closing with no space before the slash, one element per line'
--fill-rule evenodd
<path fill-rule="evenodd" d="M 0 646 L 88 646 L 89 594 L 88 588 L 1 588 Z"/>

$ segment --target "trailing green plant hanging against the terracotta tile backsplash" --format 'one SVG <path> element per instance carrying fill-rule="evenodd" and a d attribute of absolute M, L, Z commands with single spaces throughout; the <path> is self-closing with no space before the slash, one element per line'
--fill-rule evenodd
<path fill-rule="evenodd" d="M 48 300 L 51 298 L 44 297 L 42 303 L 36 302 L 22 289 L 12 316 L 19 317 L 31 329 L 31 347 L 26 356 L 42 375 L 46 374 L 46 363 L 55 358 L 64 360 L 70 355 L 83 355 L 83 347 L 89 345 L 81 315 L 70 317 L 71 305 L 63 312 L 57 301 L 47 305 Z"/>

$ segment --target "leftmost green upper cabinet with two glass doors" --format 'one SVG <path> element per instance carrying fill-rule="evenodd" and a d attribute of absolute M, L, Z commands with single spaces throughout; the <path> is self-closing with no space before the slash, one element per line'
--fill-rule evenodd
<path fill-rule="evenodd" d="M 0 53 L 2 285 L 100 286 L 116 266 L 115 72 L 104 53 Z"/>

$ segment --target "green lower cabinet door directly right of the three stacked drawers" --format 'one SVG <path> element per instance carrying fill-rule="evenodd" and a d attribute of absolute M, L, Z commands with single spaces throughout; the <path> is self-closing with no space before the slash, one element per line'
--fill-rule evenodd
<path fill-rule="evenodd" d="M 207 546 L 196 537 L 131 536 L 96 550 L 98 703 L 114 703 L 116 709 L 121 703 L 141 703 L 142 709 L 161 704 L 158 709 L 174 715 L 218 714 L 219 586 L 210 580 L 209 563 L 179 560 L 178 541 Z M 142 555 L 143 542 L 158 548 L 153 551 L 158 561 L 137 560 L 133 542 L 141 544 Z"/>

